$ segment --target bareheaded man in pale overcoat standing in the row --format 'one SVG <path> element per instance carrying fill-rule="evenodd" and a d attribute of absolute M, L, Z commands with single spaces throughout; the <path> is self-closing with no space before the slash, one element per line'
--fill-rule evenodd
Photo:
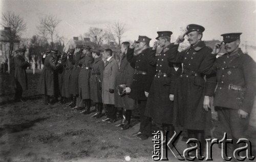
<path fill-rule="evenodd" d="M 118 63 L 113 57 L 113 51 L 111 49 L 105 49 L 103 57 L 106 59 L 106 63 L 103 70 L 103 81 L 102 81 L 102 102 L 106 111 L 106 119 L 108 123 L 114 123 L 116 121 L 115 107 L 115 81 L 116 74 L 118 71 Z"/>

